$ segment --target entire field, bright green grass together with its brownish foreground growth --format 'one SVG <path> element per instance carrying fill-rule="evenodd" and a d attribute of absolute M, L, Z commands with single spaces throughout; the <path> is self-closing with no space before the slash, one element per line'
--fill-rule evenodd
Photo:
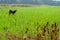
<path fill-rule="evenodd" d="M 17 10 L 14 15 L 9 15 L 9 10 Z M 47 24 L 47 22 L 49 24 Z M 1 40 L 48 40 L 52 35 L 52 24 L 57 25 L 60 30 L 60 6 L 40 6 L 40 7 L 1 7 L 0 8 L 0 39 Z M 47 24 L 47 25 L 46 25 Z M 47 26 L 49 34 L 46 32 L 43 39 L 37 35 L 43 35 L 42 28 Z M 53 26 L 55 27 L 55 26 Z M 28 33 L 26 29 L 28 28 Z M 46 28 L 46 30 L 48 30 Z M 54 30 L 57 30 L 54 29 Z M 54 31 L 55 32 L 55 31 Z M 60 31 L 56 31 L 59 37 Z M 53 33 L 54 34 L 54 33 Z M 47 38 L 48 36 L 49 38 Z M 17 37 L 16 37 L 17 36 Z M 26 36 L 29 36 L 28 39 Z M 46 37 L 47 36 L 47 37 Z M 55 36 L 55 35 L 54 35 Z M 16 38 L 16 39 L 15 39 Z M 23 39 L 26 38 L 26 39 Z M 37 38 L 37 39 L 35 39 Z M 50 38 L 50 40 L 55 40 Z"/>

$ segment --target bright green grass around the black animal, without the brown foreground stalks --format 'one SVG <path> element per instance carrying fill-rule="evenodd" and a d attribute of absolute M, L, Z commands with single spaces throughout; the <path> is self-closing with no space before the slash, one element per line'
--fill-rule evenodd
<path fill-rule="evenodd" d="M 8 11 L 17 10 L 15 15 L 9 15 Z M 7 27 L 7 31 L 13 35 L 25 34 L 26 27 L 29 27 L 29 33 L 31 36 L 37 34 L 36 25 L 37 22 L 43 27 L 46 22 L 50 25 L 53 22 L 57 22 L 60 29 L 60 6 L 40 6 L 40 7 L 1 7 L 0 9 L 0 33 L 4 33 L 4 27 Z M 27 25 L 28 23 L 28 25 Z M 41 30 L 41 28 L 40 28 Z M 21 32 L 22 31 L 22 32 Z M 40 31 L 41 32 L 41 31 Z M 59 32 L 60 33 L 60 32 Z M 59 34 L 60 35 L 60 34 Z M 5 40 L 3 37 L 1 40 Z"/>

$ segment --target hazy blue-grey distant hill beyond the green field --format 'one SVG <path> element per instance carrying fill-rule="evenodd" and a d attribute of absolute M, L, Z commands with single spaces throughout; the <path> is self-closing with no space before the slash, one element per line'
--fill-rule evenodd
<path fill-rule="evenodd" d="M 60 1 L 53 1 L 53 0 L 0 0 L 0 4 L 60 5 Z"/>

